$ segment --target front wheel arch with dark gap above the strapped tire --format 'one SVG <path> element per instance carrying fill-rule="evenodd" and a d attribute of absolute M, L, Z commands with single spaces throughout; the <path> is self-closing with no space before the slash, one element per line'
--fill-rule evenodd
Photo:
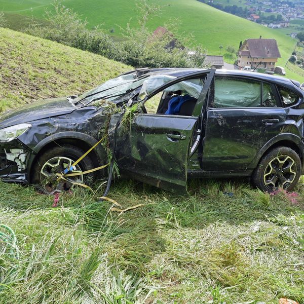
<path fill-rule="evenodd" d="M 98 141 L 92 136 L 80 132 L 61 132 L 43 139 L 33 148 L 35 154 L 32 154 L 27 162 L 27 174 L 29 179 L 34 162 L 48 149 L 70 144 L 87 151 L 97 142 Z M 102 160 L 106 158 L 106 151 L 101 145 L 98 145 L 90 152 L 89 156 L 91 157 L 94 167 L 99 167 L 102 165 Z"/>

